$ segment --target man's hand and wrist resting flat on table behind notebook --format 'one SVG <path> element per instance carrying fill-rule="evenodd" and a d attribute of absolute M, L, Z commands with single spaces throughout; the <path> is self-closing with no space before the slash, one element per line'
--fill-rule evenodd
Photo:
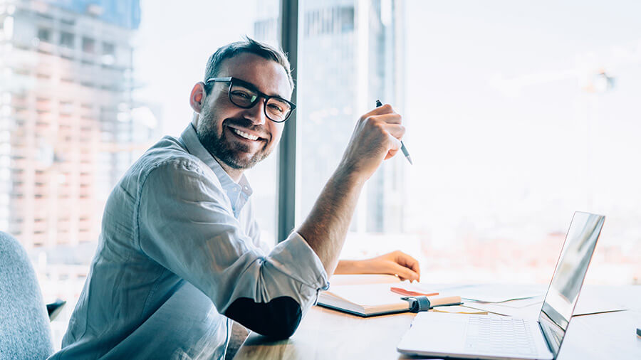
<path fill-rule="evenodd" d="M 334 273 L 390 274 L 410 281 L 419 281 L 421 277 L 418 261 L 398 250 L 367 260 L 341 260 Z"/>

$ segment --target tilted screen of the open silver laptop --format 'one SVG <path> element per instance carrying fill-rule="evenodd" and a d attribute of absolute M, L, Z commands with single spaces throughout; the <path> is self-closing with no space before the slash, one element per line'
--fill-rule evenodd
<path fill-rule="evenodd" d="M 556 358 L 605 216 L 574 213 L 538 321 Z"/>

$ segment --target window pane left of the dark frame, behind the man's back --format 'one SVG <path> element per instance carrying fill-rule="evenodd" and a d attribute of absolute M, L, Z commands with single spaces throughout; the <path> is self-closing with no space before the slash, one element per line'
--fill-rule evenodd
<path fill-rule="evenodd" d="M 160 137 L 178 136 L 189 124 L 189 92 L 219 46 L 245 34 L 278 45 L 279 6 L 274 0 L 30 3 L 11 10 L 12 28 L 20 31 L 5 38 L 11 46 L 2 55 L 24 61 L 0 61 L 0 229 L 28 250 L 46 302 L 68 302 L 52 323 L 59 347 L 113 186 Z M 13 7 L 0 7 L 0 19 Z M 276 159 L 272 154 L 249 174 L 269 243 L 275 241 Z"/>

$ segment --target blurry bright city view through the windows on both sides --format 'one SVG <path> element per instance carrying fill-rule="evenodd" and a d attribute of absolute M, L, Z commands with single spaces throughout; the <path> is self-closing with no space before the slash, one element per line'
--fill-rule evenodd
<path fill-rule="evenodd" d="M 219 46 L 278 45 L 279 6 L 0 0 L 0 231 L 31 255 L 46 302 L 68 302 L 56 346 L 111 189 L 187 126 Z M 632 0 L 301 0 L 296 223 L 380 99 L 415 164 L 395 157 L 368 181 L 343 258 L 401 249 L 424 282 L 545 283 L 573 212 L 591 211 L 606 221 L 586 282 L 639 284 L 638 14 Z M 269 243 L 276 159 L 249 171 Z"/>

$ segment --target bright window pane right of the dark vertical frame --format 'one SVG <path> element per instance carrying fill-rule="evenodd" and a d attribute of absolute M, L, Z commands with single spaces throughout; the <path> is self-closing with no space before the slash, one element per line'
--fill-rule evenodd
<path fill-rule="evenodd" d="M 586 282 L 638 283 L 641 26 L 613 3 L 546 6 L 301 1 L 296 222 L 380 98 L 415 164 L 369 179 L 343 256 L 401 248 L 443 282 L 545 283 L 581 210 L 607 218 Z"/>

